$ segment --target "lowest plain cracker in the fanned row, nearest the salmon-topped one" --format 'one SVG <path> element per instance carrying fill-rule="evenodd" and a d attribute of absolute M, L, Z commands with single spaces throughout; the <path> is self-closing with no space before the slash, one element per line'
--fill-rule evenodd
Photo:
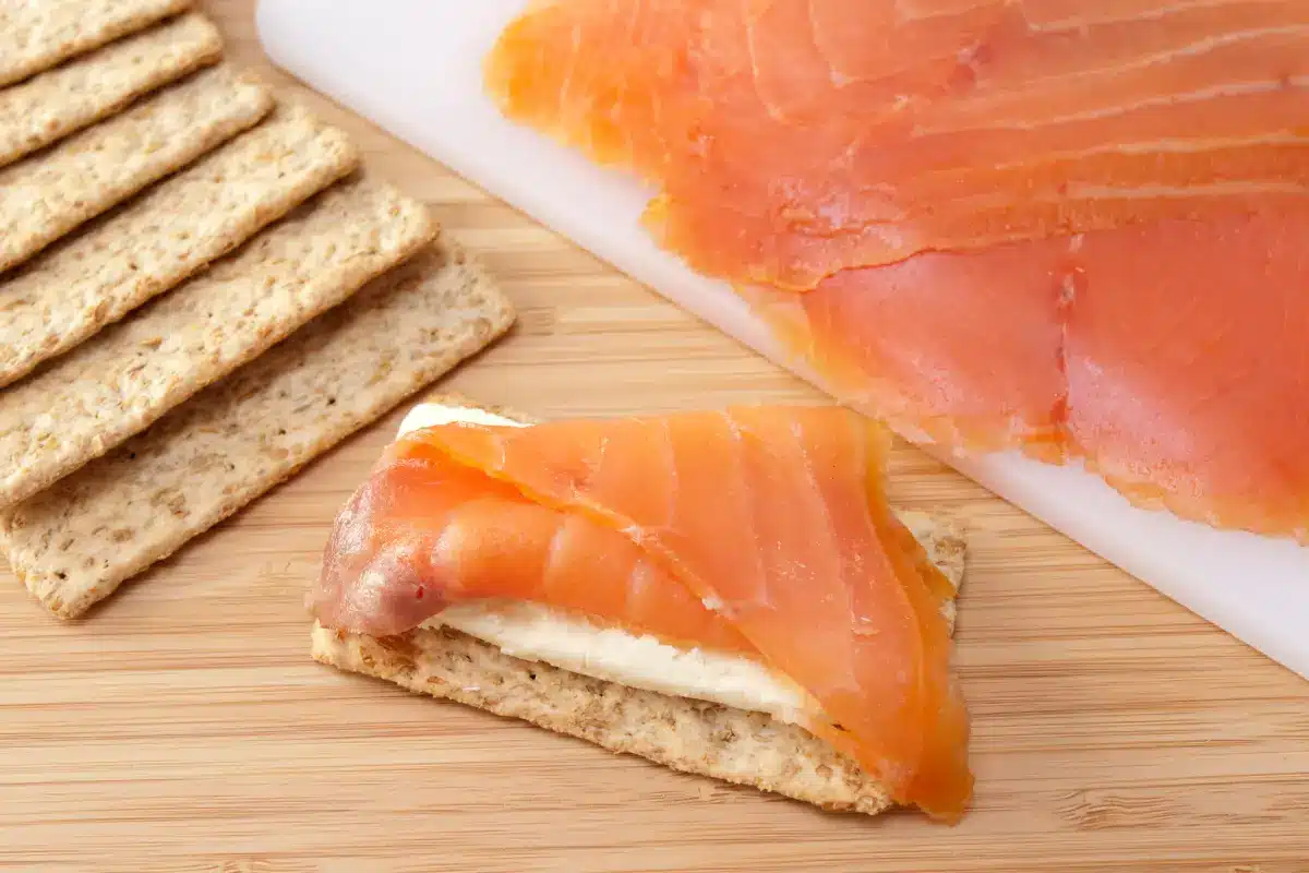
<path fill-rule="evenodd" d="M 456 250 L 374 280 L 149 431 L 0 514 L 9 563 L 81 615 L 500 336 L 513 310 Z"/>

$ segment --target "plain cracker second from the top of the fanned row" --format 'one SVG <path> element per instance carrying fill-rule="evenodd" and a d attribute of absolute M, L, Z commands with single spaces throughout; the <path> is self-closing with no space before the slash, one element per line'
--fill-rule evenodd
<path fill-rule="evenodd" d="M 217 27 L 191 13 L 0 90 L 0 166 L 221 56 Z"/>

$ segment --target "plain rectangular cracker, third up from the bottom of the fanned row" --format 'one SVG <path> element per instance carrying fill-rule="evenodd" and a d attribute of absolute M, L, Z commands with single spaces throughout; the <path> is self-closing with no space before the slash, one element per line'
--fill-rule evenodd
<path fill-rule="evenodd" d="M 0 387 L 232 251 L 357 164 L 346 134 L 283 106 L 8 280 L 0 276 Z"/>

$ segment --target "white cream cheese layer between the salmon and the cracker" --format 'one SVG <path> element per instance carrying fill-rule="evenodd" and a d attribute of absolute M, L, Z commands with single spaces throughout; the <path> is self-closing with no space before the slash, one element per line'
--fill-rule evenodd
<path fill-rule="evenodd" d="M 404 416 L 399 436 L 456 421 L 522 427 L 484 410 L 421 403 Z M 597 627 L 584 616 L 537 603 L 458 603 L 423 626 L 452 627 L 505 654 L 632 688 L 766 712 L 784 721 L 797 721 L 805 709 L 804 691 L 750 658 Z"/>

